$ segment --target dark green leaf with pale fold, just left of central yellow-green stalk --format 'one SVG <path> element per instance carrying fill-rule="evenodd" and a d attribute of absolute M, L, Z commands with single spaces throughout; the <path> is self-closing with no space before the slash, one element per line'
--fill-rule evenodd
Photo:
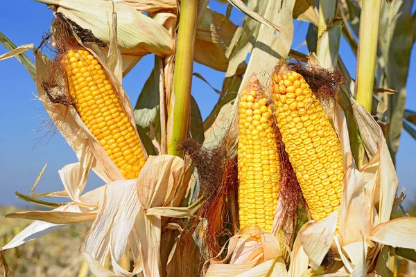
<path fill-rule="evenodd" d="M 148 155 L 157 154 L 150 137 L 150 124 L 155 129 L 155 136 L 160 143 L 160 109 L 159 109 L 159 75 L 161 58 L 155 55 L 155 67 L 150 73 L 148 80 L 144 83 L 143 89 L 135 106 L 135 121 L 137 131 Z"/>

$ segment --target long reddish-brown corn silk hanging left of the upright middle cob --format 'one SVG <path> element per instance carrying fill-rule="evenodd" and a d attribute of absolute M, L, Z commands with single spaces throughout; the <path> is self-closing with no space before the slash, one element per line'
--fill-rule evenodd
<path fill-rule="evenodd" d="M 231 136 L 230 136 L 231 137 Z M 225 139 L 213 148 L 204 148 L 195 139 L 183 140 L 179 149 L 184 150 L 198 170 L 200 197 L 203 197 L 198 214 L 192 220 L 193 228 L 205 220 L 200 229 L 203 241 L 202 254 L 206 258 L 221 260 L 221 247 L 237 231 L 237 165 L 234 142 Z"/>

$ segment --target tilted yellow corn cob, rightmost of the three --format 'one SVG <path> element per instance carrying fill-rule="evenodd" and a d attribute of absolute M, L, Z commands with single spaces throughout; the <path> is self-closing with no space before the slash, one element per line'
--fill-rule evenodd
<path fill-rule="evenodd" d="M 270 84 L 277 125 L 313 220 L 340 208 L 343 157 L 327 114 L 302 75 L 275 72 Z"/>

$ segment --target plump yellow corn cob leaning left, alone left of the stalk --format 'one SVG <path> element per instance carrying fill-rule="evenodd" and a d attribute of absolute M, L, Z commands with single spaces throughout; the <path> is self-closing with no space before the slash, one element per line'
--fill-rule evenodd
<path fill-rule="evenodd" d="M 70 50 L 62 68 L 71 99 L 89 131 L 126 179 L 137 178 L 146 163 L 139 136 L 101 65 L 86 50 Z"/>

